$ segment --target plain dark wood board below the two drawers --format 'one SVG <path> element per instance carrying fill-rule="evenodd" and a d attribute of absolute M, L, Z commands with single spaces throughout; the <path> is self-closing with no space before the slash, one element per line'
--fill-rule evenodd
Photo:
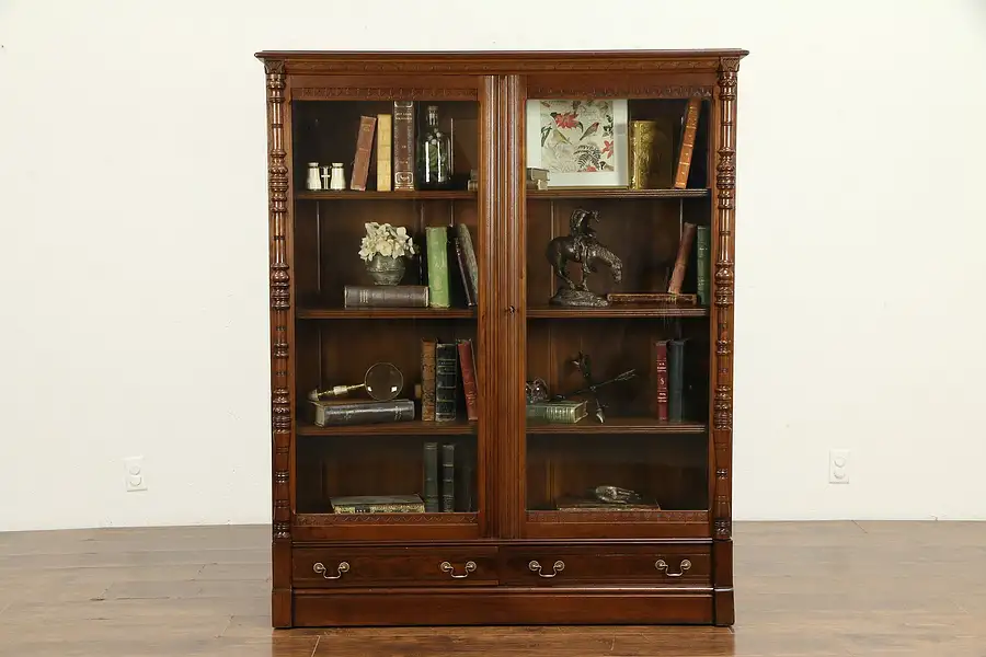
<path fill-rule="evenodd" d="M 526 625 L 712 622 L 712 596 L 626 589 L 393 589 L 368 593 L 296 591 L 295 624 Z"/>

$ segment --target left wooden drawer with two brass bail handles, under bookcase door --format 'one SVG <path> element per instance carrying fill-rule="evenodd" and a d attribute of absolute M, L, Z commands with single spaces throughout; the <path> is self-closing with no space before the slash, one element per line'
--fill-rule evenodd
<path fill-rule="evenodd" d="M 495 585 L 496 548 L 297 549 L 298 588 Z"/>

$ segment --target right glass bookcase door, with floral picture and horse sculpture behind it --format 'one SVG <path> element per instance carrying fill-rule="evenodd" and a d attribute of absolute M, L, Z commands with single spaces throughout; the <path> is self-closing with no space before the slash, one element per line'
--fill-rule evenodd
<path fill-rule="evenodd" d="M 528 538 L 709 533 L 710 101 L 527 100 Z"/>

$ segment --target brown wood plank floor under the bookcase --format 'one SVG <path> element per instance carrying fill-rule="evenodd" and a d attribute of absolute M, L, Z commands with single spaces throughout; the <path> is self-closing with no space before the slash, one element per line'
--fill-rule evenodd
<path fill-rule="evenodd" d="M 986 522 L 737 523 L 735 627 L 270 629 L 270 527 L 0 533 L 0 655 L 986 656 Z"/>

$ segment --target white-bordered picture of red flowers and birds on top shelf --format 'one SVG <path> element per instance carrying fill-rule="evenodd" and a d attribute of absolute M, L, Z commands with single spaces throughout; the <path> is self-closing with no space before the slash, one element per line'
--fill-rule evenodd
<path fill-rule="evenodd" d="M 549 187 L 628 187 L 627 101 L 527 101 L 527 165 Z"/>

